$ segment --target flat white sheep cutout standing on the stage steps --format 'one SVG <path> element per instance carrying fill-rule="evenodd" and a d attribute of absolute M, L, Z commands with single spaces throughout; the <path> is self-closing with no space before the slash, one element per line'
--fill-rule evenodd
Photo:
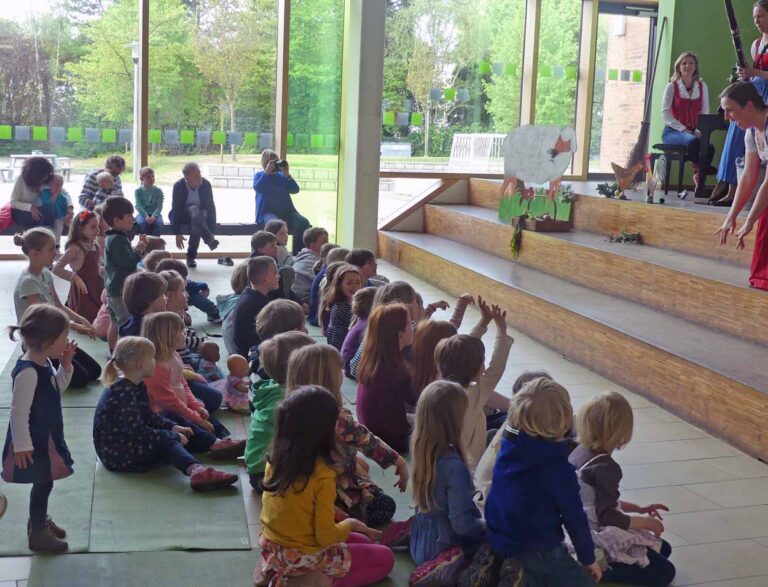
<path fill-rule="evenodd" d="M 523 194 L 531 188 L 549 186 L 553 195 L 576 152 L 576 132 L 571 127 L 525 125 L 513 129 L 504 139 L 504 183 L 501 195 L 518 181 Z"/>

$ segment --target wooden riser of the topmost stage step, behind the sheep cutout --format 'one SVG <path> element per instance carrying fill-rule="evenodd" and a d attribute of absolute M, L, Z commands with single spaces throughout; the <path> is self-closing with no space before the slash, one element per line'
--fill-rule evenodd
<path fill-rule="evenodd" d="M 499 189 L 498 182 L 471 179 L 469 201 L 475 206 L 498 209 Z M 579 197 L 573 206 L 573 222 L 577 229 L 605 235 L 626 229 L 639 232 L 648 245 L 749 266 L 751 237 L 747 239 L 744 251 L 734 248 L 734 239 L 725 247 L 717 244 L 714 232 L 724 219 L 722 214 L 712 212 L 593 196 Z"/>

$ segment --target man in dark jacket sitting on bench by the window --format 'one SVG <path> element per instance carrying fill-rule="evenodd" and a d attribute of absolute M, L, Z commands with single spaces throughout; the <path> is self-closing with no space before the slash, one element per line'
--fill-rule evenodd
<path fill-rule="evenodd" d="M 173 184 L 173 203 L 169 215 L 176 246 L 184 248 L 182 232 L 189 232 L 187 267 L 197 267 L 195 257 L 200 239 L 212 251 L 219 246 L 213 236 L 216 228 L 216 205 L 213 203 L 211 182 L 203 179 L 200 166 L 190 161 L 181 168 L 182 179 Z"/>

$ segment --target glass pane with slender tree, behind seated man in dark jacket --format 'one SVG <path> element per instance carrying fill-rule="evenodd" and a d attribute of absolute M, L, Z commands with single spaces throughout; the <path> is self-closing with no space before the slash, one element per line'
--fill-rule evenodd
<path fill-rule="evenodd" d="M 148 160 L 164 213 L 194 160 L 218 222 L 254 222 L 253 175 L 275 145 L 277 1 L 150 0 L 149 14 Z"/>

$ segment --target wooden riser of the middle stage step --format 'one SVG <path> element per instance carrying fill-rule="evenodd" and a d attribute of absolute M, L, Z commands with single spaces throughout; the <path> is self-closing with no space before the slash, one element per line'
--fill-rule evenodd
<path fill-rule="evenodd" d="M 513 228 L 454 211 L 427 206 L 425 232 L 450 238 L 504 259 Z M 615 245 L 617 248 L 637 245 Z M 525 231 L 517 262 L 599 291 L 640 302 L 728 334 L 768 344 L 764 292 L 704 279 L 660 265 L 613 255 Z M 744 271 L 747 279 L 747 270 Z"/>

